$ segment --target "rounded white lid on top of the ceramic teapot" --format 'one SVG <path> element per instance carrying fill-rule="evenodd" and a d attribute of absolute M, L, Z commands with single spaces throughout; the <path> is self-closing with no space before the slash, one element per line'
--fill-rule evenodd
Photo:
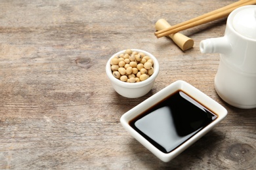
<path fill-rule="evenodd" d="M 234 29 L 250 39 L 256 39 L 256 7 L 249 5 L 247 8 L 238 10 L 233 18 Z"/>

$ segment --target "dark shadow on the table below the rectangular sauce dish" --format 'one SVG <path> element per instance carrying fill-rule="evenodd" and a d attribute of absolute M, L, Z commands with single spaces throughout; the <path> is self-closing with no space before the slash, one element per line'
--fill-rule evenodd
<path fill-rule="evenodd" d="M 146 169 L 190 169 L 192 164 L 196 165 L 202 163 L 203 159 L 209 160 L 208 158 L 205 159 L 205 157 L 212 156 L 217 152 L 214 148 L 217 149 L 218 144 L 221 143 L 223 139 L 223 135 L 219 135 L 215 131 L 210 131 L 169 162 L 159 160 L 136 139 L 132 140 L 129 146 L 131 150 L 133 150 L 134 156 L 142 161 Z"/>

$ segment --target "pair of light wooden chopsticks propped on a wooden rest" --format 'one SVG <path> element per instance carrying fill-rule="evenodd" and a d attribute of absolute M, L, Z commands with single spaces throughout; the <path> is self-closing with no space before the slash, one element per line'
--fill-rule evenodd
<path fill-rule="evenodd" d="M 256 4 L 256 0 L 241 0 L 236 3 L 227 5 L 226 7 L 223 7 L 221 9 L 213 10 L 207 14 L 203 14 L 202 16 L 198 16 L 186 22 L 182 22 L 181 24 L 173 25 L 166 29 L 156 31 L 155 35 L 158 38 L 171 35 L 173 33 L 177 33 L 179 31 L 188 29 L 190 27 L 196 27 L 198 25 L 205 24 L 207 22 L 224 18 L 228 16 L 230 12 L 232 12 L 234 9 L 237 9 L 238 7 L 242 7 L 245 5 L 253 5 L 253 4 Z"/>

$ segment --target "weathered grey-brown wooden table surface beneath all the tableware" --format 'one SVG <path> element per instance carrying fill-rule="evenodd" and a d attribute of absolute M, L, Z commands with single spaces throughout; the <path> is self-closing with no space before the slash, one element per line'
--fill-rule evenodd
<path fill-rule="evenodd" d="M 201 54 L 226 18 L 182 33 L 182 52 L 154 36 L 165 18 L 178 24 L 233 1 L 0 1 L 0 169 L 256 169 L 256 109 L 237 109 L 215 92 L 219 54 Z M 106 61 L 126 48 L 154 54 L 160 73 L 138 99 L 118 95 Z M 119 122 L 121 115 L 175 80 L 221 103 L 228 116 L 164 163 Z M 235 86 L 235 85 L 234 85 Z"/>

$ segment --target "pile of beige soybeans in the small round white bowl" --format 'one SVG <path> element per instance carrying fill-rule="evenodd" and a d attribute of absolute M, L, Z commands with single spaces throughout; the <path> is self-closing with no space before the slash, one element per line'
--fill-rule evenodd
<path fill-rule="evenodd" d="M 140 82 L 154 73 L 154 62 L 143 52 L 125 50 L 110 61 L 113 75 L 123 82 Z"/>

